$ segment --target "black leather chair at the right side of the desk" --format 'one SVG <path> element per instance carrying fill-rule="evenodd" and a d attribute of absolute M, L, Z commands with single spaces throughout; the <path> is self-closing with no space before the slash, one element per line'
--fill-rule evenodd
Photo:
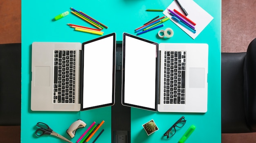
<path fill-rule="evenodd" d="M 222 133 L 256 132 L 256 39 L 221 58 Z"/>

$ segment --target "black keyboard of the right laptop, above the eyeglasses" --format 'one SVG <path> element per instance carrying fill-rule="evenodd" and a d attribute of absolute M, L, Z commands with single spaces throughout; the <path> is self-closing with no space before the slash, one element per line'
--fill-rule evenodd
<path fill-rule="evenodd" d="M 164 52 L 164 104 L 185 104 L 186 52 Z"/>

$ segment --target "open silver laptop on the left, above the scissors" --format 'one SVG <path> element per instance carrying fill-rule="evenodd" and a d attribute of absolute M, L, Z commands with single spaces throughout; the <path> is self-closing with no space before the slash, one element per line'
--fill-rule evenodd
<path fill-rule="evenodd" d="M 85 43 L 32 43 L 31 110 L 80 111 L 113 105 L 115 51 L 115 33 Z"/>

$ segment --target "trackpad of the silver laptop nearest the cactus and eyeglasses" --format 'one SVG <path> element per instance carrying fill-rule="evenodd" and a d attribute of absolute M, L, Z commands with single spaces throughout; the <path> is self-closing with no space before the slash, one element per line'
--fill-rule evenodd
<path fill-rule="evenodd" d="M 189 68 L 189 87 L 204 88 L 204 68 Z"/>

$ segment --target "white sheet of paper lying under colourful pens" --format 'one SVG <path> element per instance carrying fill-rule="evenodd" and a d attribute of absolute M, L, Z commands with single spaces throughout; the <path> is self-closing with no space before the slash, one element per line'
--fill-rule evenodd
<path fill-rule="evenodd" d="M 172 22 L 174 22 L 177 26 L 179 26 L 191 38 L 195 39 L 200 34 L 200 32 L 202 32 L 202 30 L 204 30 L 204 28 L 211 22 L 211 20 L 213 20 L 213 17 L 209 13 L 207 13 L 204 9 L 202 9 L 202 7 L 200 7 L 193 0 L 179 0 L 179 2 L 182 5 L 182 7 L 186 10 L 186 12 L 189 14 L 186 17 L 188 17 L 190 20 L 195 22 L 196 24 L 194 26 L 196 30 L 195 33 L 191 32 L 190 30 L 186 29 L 182 25 L 178 24 L 171 18 L 172 15 L 168 13 L 167 9 L 170 9 L 171 11 L 173 11 L 173 9 L 176 9 L 177 11 L 179 11 L 184 15 L 182 9 L 180 8 L 180 6 L 177 4 L 175 0 L 167 7 L 167 9 L 163 12 L 163 14 L 169 17 Z"/>

